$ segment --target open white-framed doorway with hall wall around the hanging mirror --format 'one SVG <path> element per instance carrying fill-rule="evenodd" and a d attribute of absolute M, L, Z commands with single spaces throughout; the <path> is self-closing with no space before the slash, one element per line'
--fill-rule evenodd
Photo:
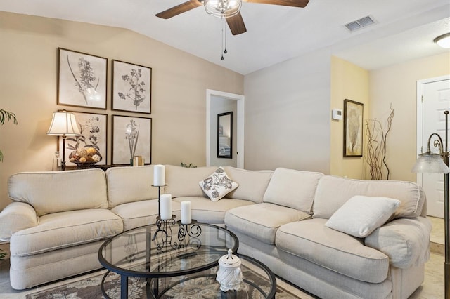
<path fill-rule="evenodd" d="M 221 102 L 221 104 L 218 104 L 218 102 Z M 226 102 L 229 103 L 226 104 Z M 236 115 L 233 121 L 236 124 L 236 126 L 233 125 L 236 128 L 236 134 L 233 134 L 236 135 L 236 142 L 233 140 L 231 157 L 236 159 L 233 166 L 244 168 L 244 96 L 212 89 L 206 91 L 206 165 L 224 166 L 230 163 L 228 161 L 230 159 L 219 158 L 219 161 L 217 161 L 217 108 L 215 107 L 218 105 L 234 105 L 236 107 L 236 113 L 233 113 L 233 115 Z M 227 161 L 225 163 L 222 160 Z"/>

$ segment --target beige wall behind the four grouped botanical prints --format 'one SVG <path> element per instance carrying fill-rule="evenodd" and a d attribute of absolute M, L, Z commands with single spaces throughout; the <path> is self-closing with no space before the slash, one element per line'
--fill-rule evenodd
<path fill-rule="evenodd" d="M 57 138 L 47 136 L 57 109 L 108 114 L 110 109 L 56 105 L 58 47 L 152 67 L 152 163 L 206 164 L 206 89 L 243 94 L 243 76 L 127 29 L 0 12 L 0 109 L 19 124 L 0 126 L 0 210 L 8 204 L 7 179 L 19 171 L 49 171 Z"/>

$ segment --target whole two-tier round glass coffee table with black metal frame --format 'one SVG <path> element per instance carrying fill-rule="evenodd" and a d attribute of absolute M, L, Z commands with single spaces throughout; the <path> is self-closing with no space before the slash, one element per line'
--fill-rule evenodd
<path fill-rule="evenodd" d="M 102 293 L 105 298 L 192 298 L 193 293 L 203 298 L 242 298 L 241 293 L 251 290 L 258 298 L 274 298 L 274 274 L 244 255 L 238 255 L 243 270 L 240 290 L 220 290 L 215 280 L 219 258 L 229 249 L 236 253 L 238 244 L 233 232 L 195 221 L 181 225 L 172 219 L 127 230 L 105 241 L 98 251 L 108 270 Z M 117 274 L 120 279 L 114 280 Z"/>

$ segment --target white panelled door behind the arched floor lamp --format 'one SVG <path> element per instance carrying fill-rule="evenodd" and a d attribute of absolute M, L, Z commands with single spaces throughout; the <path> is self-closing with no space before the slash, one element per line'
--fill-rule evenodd
<path fill-rule="evenodd" d="M 450 75 L 417 81 L 417 103 L 418 154 L 427 151 L 432 133 L 438 133 L 445 146 L 444 111 L 450 108 Z M 437 152 L 432 143 L 430 150 Z M 444 218 L 444 175 L 418 173 L 417 182 L 427 194 L 428 215 Z"/>

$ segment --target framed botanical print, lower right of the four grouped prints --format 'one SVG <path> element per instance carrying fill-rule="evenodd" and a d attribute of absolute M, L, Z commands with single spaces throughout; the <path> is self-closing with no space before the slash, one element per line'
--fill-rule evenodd
<path fill-rule="evenodd" d="M 113 164 L 130 165 L 130 159 L 141 156 L 151 164 L 152 119 L 113 115 Z"/>

